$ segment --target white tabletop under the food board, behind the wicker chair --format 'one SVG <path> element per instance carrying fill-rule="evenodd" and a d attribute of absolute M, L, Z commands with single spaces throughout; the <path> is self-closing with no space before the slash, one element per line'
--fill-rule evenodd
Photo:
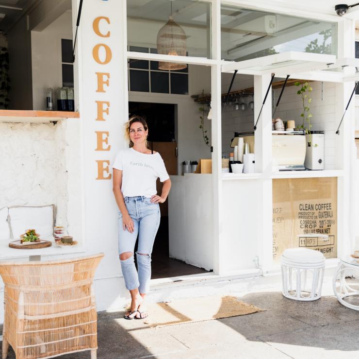
<path fill-rule="evenodd" d="M 62 256 L 76 253 L 84 253 L 87 250 L 81 245 L 58 246 L 54 239 L 46 239 L 52 242 L 51 247 L 41 249 L 16 249 L 10 248 L 8 241 L 0 241 L 0 260 L 25 258 L 25 260 L 41 260 L 41 256 Z"/>

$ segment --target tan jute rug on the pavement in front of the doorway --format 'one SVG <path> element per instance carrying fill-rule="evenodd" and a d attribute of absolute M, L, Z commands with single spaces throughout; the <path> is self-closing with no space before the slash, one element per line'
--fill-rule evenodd
<path fill-rule="evenodd" d="M 149 317 L 144 323 L 153 327 L 201 322 L 251 314 L 262 309 L 232 296 L 210 296 L 148 304 Z"/>

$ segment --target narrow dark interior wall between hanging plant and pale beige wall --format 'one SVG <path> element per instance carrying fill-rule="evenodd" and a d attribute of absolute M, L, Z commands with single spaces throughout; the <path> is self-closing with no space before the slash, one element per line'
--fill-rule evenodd
<path fill-rule="evenodd" d="M 7 37 L 11 80 L 9 110 L 32 110 L 31 33 L 26 17 L 16 23 Z"/>

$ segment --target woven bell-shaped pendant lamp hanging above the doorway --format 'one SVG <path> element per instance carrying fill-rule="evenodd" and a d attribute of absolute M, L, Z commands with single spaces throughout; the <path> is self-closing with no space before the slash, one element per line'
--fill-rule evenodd
<path fill-rule="evenodd" d="M 172 11 L 171 11 L 172 13 Z M 186 34 L 183 29 L 173 21 L 173 17 L 168 18 L 167 23 L 157 34 L 157 51 L 164 55 L 186 56 Z M 182 70 L 186 64 L 176 64 L 174 62 L 160 61 L 160 70 Z"/>

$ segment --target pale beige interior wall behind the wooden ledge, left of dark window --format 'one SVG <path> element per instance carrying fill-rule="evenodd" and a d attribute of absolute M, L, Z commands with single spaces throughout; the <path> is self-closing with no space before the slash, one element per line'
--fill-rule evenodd
<path fill-rule="evenodd" d="M 62 87 L 61 39 L 72 39 L 72 15 L 66 12 L 43 31 L 31 32 L 33 109 L 46 110 L 46 89 L 51 87 L 54 110 L 57 88 Z"/>

